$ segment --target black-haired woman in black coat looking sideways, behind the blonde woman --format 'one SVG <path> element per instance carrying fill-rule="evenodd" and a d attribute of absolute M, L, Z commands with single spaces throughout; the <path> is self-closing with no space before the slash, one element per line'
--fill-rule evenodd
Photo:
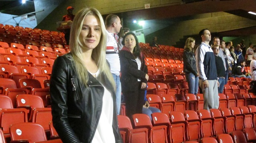
<path fill-rule="evenodd" d="M 126 114 L 132 119 L 133 114 L 142 113 L 148 68 L 134 33 L 125 34 L 122 44 L 124 47 L 119 52 L 122 73 L 120 81 L 125 98 Z"/>

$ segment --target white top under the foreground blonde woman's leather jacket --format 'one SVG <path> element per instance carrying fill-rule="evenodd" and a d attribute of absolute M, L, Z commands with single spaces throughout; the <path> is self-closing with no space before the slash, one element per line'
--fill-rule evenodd
<path fill-rule="evenodd" d="M 93 73 L 92 73 L 93 74 Z M 95 73 L 96 79 L 102 81 L 98 75 L 99 70 Z M 100 82 L 101 83 L 101 82 Z M 103 85 L 103 84 L 102 84 Z M 104 87 L 104 94 L 102 99 L 101 116 L 92 143 L 115 143 L 115 136 L 112 128 L 113 122 L 113 95 Z"/>

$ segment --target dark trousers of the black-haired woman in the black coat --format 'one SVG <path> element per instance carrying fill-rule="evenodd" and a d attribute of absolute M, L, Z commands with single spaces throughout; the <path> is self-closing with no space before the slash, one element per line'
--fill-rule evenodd
<path fill-rule="evenodd" d="M 134 92 L 122 92 L 125 98 L 126 116 L 132 120 L 133 114 L 142 113 L 145 90 L 141 90 L 141 82 L 138 82 Z"/>

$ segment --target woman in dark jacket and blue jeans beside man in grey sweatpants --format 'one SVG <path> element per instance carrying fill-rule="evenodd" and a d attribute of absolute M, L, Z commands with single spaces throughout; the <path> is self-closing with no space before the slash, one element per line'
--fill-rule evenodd
<path fill-rule="evenodd" d="M 197 94 L 198 92 L 198 76 L 196 70 L 196 59 L 194 54 L 195 39 L 189 37 L 186 40 L 183 53 L 183 71 L 188 82 L 189 93 Z"/>

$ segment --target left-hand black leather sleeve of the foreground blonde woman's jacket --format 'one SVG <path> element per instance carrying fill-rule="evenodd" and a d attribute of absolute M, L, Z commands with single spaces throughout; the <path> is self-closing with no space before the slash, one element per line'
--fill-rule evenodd
<path fill-rule="evenodd" d="M 63 143 L 80 143 L 68 121 L 67 75 L 68 65 L 65 59 L 60 56 L 53 64 L 50 80 L 52 122 Z"/>

